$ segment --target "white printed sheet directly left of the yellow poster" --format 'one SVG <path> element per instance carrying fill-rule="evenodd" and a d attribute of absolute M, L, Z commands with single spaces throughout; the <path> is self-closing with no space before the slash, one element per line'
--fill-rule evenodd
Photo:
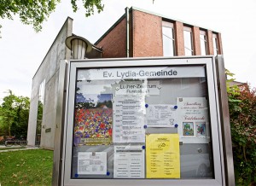
<path fill-rule="evenodd" d="M 114 178 L 144 178 L 144 149 L 142 146 L 115 146 Z"/>

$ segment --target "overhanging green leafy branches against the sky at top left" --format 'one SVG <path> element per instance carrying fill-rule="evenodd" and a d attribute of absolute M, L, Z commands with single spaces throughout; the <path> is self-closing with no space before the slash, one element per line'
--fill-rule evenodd
<path fill-rule="evenodd" d="M 73 12 L 78 10 L 77 0 L 71 0 Z M 100 13 L 104 5 L 102 0 L 83 0 L 85 16 L 94 14 L 94 8 Z M 0 17 L 13 20 L 14 15 L 19 15 L 20 21 L 26 25 L 32 25 L 36 32 L 41 31 L 42 23 L 55 11 L 56 5 L 61 0 L 1 0 Z M 0 25 L 1 29 L 1 25 Z"/>

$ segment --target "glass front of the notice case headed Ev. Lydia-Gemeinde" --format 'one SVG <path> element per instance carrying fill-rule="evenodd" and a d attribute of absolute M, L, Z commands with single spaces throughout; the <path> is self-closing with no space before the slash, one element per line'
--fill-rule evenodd
<path fill-rule="evenodd" d="M 204 66 L 79 69 L 71 177 L 213 178 L 205 72 Z"/>

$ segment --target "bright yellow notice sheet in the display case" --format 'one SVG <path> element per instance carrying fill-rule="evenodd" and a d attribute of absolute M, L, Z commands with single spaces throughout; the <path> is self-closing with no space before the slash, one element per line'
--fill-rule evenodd
<path fill-rule="evenodd" d="M 146 136 L 147 178 L 180 178 L 178 134 Z"/>

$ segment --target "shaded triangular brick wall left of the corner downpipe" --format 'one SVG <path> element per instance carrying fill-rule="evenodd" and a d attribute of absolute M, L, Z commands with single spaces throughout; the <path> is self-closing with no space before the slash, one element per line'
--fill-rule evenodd
<path fill-rule="evenodd" d="M 113 27 L 105 38 L 97 44 L 102 47 L 102 58 L 126 57 L 126 19 Z"/>

